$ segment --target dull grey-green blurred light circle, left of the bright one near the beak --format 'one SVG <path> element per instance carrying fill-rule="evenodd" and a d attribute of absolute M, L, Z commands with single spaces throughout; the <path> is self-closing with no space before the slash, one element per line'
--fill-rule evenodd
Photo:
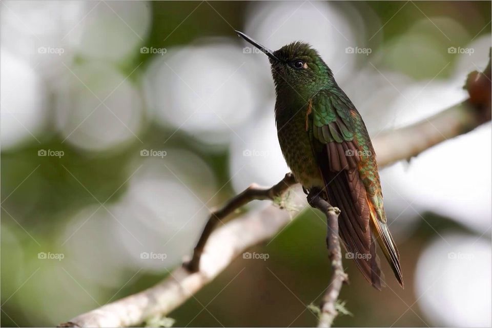
<path fill-rule="evenodd" d="M 57 83 L 56 125 L 64 142 L 94 151 L 140 142 L 144 106 L 128 76 L 91 62 L 67 68 Z"/>

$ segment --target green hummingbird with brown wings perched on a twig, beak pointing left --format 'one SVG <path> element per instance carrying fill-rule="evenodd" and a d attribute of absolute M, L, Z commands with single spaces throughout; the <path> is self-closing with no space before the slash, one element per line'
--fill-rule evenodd
<path fill-rule="evenodd" d="M 304 192 L 322 196 L 341 213 L 339 237 L 362 275 L 384 286 L 376 243 L 403 287 L 400 255 L 389 233 L 376 154 L 364 121 L 335 82 L 332 70 L 309 44 L 272 51 L 248 35 L 245 41 L 269 57 L 275 84 L 280 148 Z"/>

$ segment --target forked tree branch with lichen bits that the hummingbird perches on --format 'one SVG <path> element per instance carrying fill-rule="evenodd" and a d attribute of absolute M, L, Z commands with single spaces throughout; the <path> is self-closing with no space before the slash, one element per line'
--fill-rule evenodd
<path fill-rule="evenodd" d="M 489 61 L 485 73 L 473 72 L 468 76 L 468 100 L 431 118 L 389 131 L 375 139 L 373 143 L 378 154 L 378 165 L 383 167 L 417 156 L 446 139 L 490 121 L 490 75 Z M 272 200 L 293 185 L 291 179 L 292 176 L 287 175 L 272 188 L 251 186 L 216 211 L 211 220 L 218 222 L 254 199 Z M 343 269 L 338 234 L 335 233 L 338 231 L 337 212 L 322 199 L 311 199 L 311 204 L 326 214 L 329 225 L 327 246 L 330 249 L 334 275 L 329 292 L 323 298 L 320 326 L 330 326 L 336 316 L 335 302 L 345 279 L 340 274 Z M 60 326 L 135 326 L 153 316 L 165 316 L 213 280 L 244 250 L 271 239 L 289 222 L 290 215 L 273 204 L 257 213 L 242 215 L 213 231 L 204 248 L 203 245 L 198 248 L 199 253 L 202 253 L 198 272 L 190 273 L 186 268 L 178 267 L 157 285 L 81 314 Z M 211 231 L 212 229 L 209 234 Z M 198 265 L 193 259 L 190 263 Z"/>

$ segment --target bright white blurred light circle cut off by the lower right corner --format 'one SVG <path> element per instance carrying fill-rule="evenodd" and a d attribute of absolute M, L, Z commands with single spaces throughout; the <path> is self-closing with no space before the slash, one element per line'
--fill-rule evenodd
<path fill-rule="evenodd" d="M 417 264 L 419 307 L 437 326 L 490 326 L 490 241 L 443 234 Z"/>

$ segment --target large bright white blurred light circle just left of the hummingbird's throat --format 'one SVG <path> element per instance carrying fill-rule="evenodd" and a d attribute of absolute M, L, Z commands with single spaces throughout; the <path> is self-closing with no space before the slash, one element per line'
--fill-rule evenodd
<path fill-rule="evenodd" d="M 251 60 L 223 38 L 167 49 L 147 69 L 147 103 L 160 124 L 206 144 L 227 144 L 261 101 L 264 81 L 247 65 Z"/>

